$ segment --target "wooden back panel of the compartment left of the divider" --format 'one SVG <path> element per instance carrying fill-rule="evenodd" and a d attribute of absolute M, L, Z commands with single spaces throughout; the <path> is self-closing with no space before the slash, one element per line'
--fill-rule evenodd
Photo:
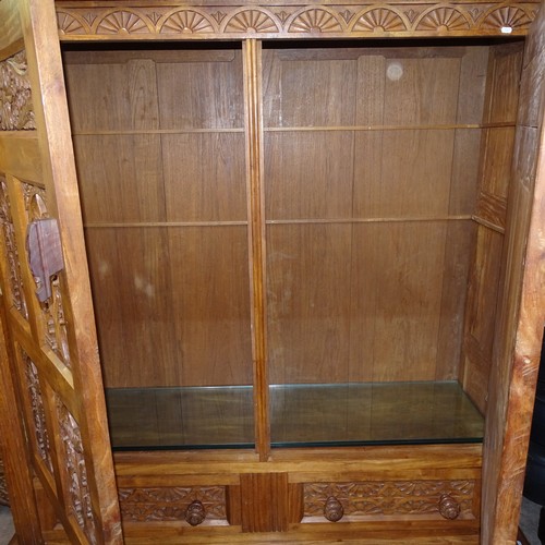
<path fill-rule="evenodd" d="M 65 59 L 106 385 L 250 384 L 240 49 Z"/>

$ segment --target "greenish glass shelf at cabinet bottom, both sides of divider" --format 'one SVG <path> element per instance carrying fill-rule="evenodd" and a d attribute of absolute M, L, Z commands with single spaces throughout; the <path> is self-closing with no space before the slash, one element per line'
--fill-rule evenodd
<path fill-rule="evenodd" d="M 107 390 L 116 450 L 254 448 L 250 386 Z M 480 443 L 456 382 L 270 386 L 271 446 Z"/>

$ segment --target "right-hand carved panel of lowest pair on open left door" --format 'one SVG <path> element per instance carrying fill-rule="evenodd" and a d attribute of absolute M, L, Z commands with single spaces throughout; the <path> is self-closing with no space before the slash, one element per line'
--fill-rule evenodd
<path fill-rule="evenodd" d="M 62 446 L 62 470 L 65 472 L 65 502 L 68 511 L 76 520 L 89 543 L 97 543 L 97 524 L 93 513 L 87 469 L 83 451 L 80 426 L 74 416 L 60 401 L 57 401 L 60 444 Z"/>

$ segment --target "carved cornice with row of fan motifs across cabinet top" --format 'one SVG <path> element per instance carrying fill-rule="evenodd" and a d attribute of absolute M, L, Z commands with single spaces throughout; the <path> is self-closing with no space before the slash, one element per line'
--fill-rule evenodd
<path fill-rule="evenodd" d="M 138 2 L 140 4 L 142 2 Z M 538 1 L 306 5 L 57 4 L 62 40 L 524 35 Z"/>

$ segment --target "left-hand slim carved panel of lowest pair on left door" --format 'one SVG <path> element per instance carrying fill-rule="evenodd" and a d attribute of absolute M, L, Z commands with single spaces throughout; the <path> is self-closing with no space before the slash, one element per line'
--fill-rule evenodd
<path fill-rule="evenodd" d="M 51 463 L 51 445 L 49 441 L 49 433 L 47 431 L 46 411 L 44 407 L 44 397 L 41 393 L 38 370 L 31 358 L 22 349 L 21 358 L 24 365 L 26 388 L 28 391 L 28 402 L 33 419 L 32 425 L 34 427 L 36 451 L 52 473 L 53 467 Z"/>

